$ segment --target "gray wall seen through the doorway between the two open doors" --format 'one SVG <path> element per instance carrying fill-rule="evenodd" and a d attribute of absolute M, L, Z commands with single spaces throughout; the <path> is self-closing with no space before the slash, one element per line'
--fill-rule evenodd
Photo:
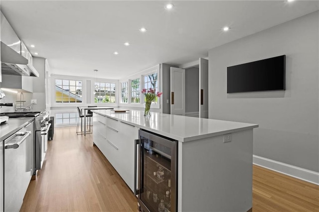
<path fill-rule="evenodd" d="M 185 69 L 185 112 L 198 112 L 199 68 Z"/>

